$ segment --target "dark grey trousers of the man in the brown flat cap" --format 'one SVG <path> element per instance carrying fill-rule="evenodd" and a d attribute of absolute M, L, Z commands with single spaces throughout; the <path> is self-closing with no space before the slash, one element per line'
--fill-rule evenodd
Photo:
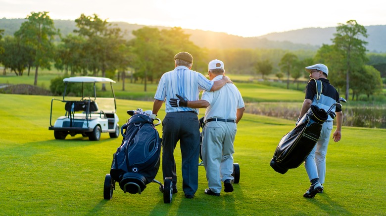
<path fill-rule="evenodd" d="M 194 195 L 198 188 L 198 154 L 200 131 L 198 117 L 193 112 L 170 112 L 162 121 L 162 172 L 171 177 L 177 188 L 174 149 L 180 141 L 182 156 L 182 189 Z"/>

